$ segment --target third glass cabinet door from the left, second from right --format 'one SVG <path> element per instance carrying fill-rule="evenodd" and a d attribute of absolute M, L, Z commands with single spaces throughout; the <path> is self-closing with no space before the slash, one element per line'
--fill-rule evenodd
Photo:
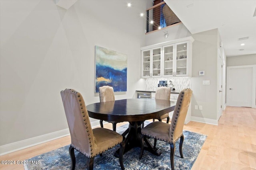
<path fill-rule="evenodd" d="M 173 45 L 164 46 L 163 48 L 163 76 L 173 76 L 175 62 Z"/>

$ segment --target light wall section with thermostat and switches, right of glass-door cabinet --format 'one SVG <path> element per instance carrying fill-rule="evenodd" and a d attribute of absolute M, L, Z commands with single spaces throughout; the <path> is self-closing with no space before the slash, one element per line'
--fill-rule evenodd
<path fill-rule="evenodd" d="M 192 58 L 192 117 L 216 120 L 217 102 L 217 42 L 218 29 L 193 34 Z M 204 76 L 199 71 L 204 70 Z M 203 80 L 210 80 L 210 85 L 203 85 Z M 195 110 L 194 105 L 203 106 L 203 110 Z"/>

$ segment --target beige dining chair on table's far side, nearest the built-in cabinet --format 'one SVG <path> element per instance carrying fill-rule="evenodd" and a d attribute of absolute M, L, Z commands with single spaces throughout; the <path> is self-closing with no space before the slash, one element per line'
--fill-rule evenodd
<path fill-rule="evenodd" d="M 170 100 L 170 95 L 171 95 L 171 88 L 162 86 L 162 87 L 158 87 L 156 89 L 156 95 L 155 95 L 155 99 L 161 99 L 161 100 Z M 169 113 L 166 113 L 160 117 L 158 117 L 158 121 L 162 121 L 162 119 L 167 118 L 166 123 L 169 123 L 170 117 L 169 117 Z M 153 119 L 153 121 L 155 121 L 155 119 Z"/>

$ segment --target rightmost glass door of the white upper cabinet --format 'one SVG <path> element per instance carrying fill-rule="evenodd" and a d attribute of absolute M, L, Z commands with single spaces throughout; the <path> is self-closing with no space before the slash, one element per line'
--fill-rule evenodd
<path fill-rule="evenodd" d="M 188 42 L 177 43 L 176 45 L 176 72 L 175 76 L 188 75 Z"/>

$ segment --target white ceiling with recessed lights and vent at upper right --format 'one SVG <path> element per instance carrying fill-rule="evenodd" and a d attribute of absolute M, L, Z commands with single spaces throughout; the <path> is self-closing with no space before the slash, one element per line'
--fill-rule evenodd
<path fill-rule="evenodd" d="M 192 34 L 218 28 L 227 57 L 256 54 L 256 0 L 164 1 Z"/>

